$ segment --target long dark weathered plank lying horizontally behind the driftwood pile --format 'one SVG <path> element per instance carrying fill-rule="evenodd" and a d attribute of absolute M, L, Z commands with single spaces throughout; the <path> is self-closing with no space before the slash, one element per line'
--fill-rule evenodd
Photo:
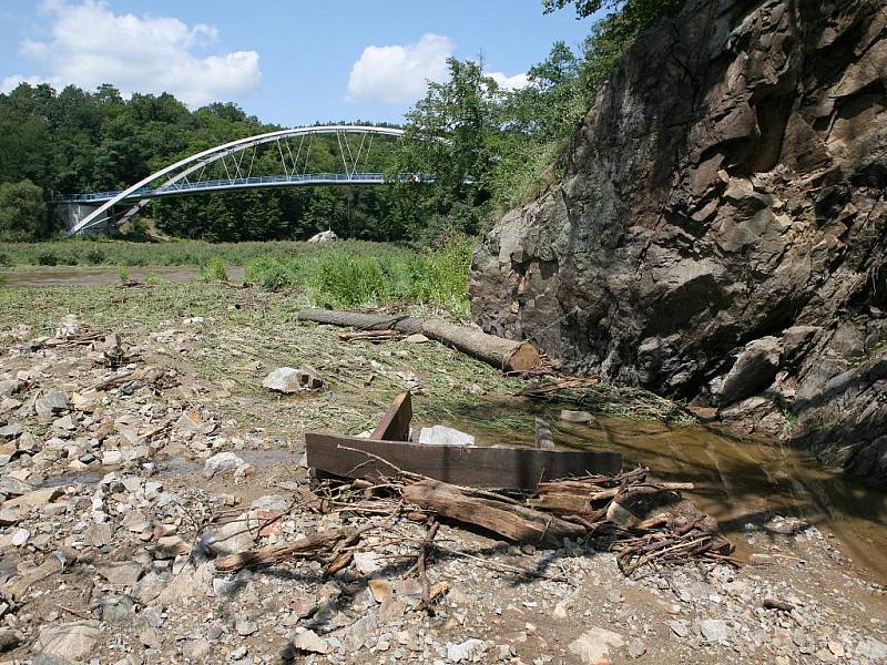
<path fill-rule="evenodd" d="M 384 458 L 402 471 L 477 488 L 536 489 L 540 481 L 622 470 L 622 456 L 610 451 L 425 446 L 319 432 L 306 433 L 305 447 L 309 467 L 370 480 L 396 471 L 359 451 Z"/>

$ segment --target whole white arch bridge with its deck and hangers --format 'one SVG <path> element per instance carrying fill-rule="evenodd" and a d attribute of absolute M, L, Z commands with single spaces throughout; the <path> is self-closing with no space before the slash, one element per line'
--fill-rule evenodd
<path fill-rule="evenodd" d="M 314 139 L 319 135 L 335 137 L 335 142 L 330 139 L 326 145 L 315 145 Z M 165 196 L 281 186 L 380 185 L 391 181 L 386 180 L 380 168 L 370 167 L 378 165 L 373 160 L 374 139 L 402 135 L 404 130 L 365 125 L 279 130 L 187 156 L 122 191 L 60 196 L 57 202 L 64 208 L 68 235 L 75 235 L 120 226 L 153 198 Z M 318 158 L 319 152 L 323 158 Z M 324 160 L 327 170 L 318 171 Z M 330 161 L 336 162 L 337 172 L 329 170 Z M 432 180 L 431 174 L 400 174 L 394 178 L 395 182 Z"/>

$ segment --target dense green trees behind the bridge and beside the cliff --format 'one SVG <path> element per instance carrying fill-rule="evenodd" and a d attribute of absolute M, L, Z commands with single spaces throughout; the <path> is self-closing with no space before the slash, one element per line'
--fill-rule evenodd
<path fill-rule="evenodd" d="M 215 242 L 299 239 L 326 228 L 373 241 L 476 234 L 497 209 L 529 200 L 557 178 L 570 135 L 619 57 L 682 3 L 544 0 L 546 11 L 565 4 L 580 17 L 602 7 L 612 11 L 579 53 L 555 43 L 530 70 L 530 84 L 513 92 L 486 76 L 482 62 L 450 60 L 449 80 L 429 84 L 407 114 L 406 139 L 379 141 L 368 155 L 370 170 L 434 173 L 434 185 L 183 196 L 155 201 L 145 214 L 163 233 Z M 22 83 L 0 94 L 0 237 L 55 232 L 47 205 L 53 195 L 119 190 L 177 158 L 275 129 L 234 104 L 191 111 L 171 94 L 124 100 L 112 85 L 57 92 Z M 335 137 L 318 139 L 313 150 L 313 170 L 341 168 Z M 273 151 L 258 155 L 256 173 L 279 173 Z"/>

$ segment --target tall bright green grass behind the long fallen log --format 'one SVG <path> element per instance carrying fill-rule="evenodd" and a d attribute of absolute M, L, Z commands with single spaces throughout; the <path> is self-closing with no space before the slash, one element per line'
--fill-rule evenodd
<path fill-rule="evenodd" d="M 435 305 L 467 314 L 473 243 L 455 238 L 438 249 L 345 242 L 266 256 L 246 264 L 246 279 L 278 290 L 297 288 L 318 307 L 363 308 L 388 303 Z"/>

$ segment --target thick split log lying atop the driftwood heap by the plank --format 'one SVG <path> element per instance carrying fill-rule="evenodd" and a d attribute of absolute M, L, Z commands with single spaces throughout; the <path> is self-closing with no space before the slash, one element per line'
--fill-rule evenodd
<path fill-rule="evenodd" d="M 422 480 L 401 490 L 404 499 L 446 518 L 475 524 L 514 542 L 560 548 L 564 538 L 580 538 L 585 529 L 531 508 L 469 495 L 437 480 Z"/>

